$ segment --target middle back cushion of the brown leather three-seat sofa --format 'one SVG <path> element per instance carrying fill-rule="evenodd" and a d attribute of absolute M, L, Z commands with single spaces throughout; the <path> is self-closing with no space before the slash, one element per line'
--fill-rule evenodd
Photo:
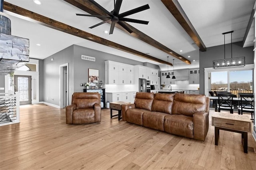
<path fill-rule="evenodd" d="M 174 94 L 156 93 L 152 104 L 152 111 L 172 114 Z"/>

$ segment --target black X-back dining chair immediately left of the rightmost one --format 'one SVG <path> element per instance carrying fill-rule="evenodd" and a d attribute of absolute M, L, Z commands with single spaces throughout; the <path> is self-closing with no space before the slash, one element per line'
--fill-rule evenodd
<path fill-rule="evenodd" d="M 233 114 L 234 105 L 233 105 L 233 94 L 227 93 L 218 93 L 218 112 L 221 110 L 230 111 Z"/>

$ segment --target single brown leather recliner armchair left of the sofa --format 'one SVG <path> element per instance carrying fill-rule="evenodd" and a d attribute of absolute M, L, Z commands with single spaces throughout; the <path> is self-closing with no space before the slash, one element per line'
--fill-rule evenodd
<path fill-rule="evenodd" d="M 66 107 L 66 124 L 96 123 L 101 121 L 100 94 L 74 93 Z"/>

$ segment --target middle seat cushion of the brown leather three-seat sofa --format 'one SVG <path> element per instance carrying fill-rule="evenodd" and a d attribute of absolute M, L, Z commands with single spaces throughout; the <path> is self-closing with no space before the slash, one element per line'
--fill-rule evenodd
<path fill-rule="evenodd" d="M 153 112 L 153 111 L 144 112 L 142 115 L 143 126 L 164 131 L 164 117 L 166 115 L 169 115 L 169 114 L 161 113 L 161 112 Z"/>

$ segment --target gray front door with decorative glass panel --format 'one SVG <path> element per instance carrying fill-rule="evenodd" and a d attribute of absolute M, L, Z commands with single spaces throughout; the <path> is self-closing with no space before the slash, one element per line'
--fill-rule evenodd
<path fill-rule="evenodd" d="M 14 75 L 14 91 L 20 92 L 20 105 L 31 104 L 31 76 Z"/>

